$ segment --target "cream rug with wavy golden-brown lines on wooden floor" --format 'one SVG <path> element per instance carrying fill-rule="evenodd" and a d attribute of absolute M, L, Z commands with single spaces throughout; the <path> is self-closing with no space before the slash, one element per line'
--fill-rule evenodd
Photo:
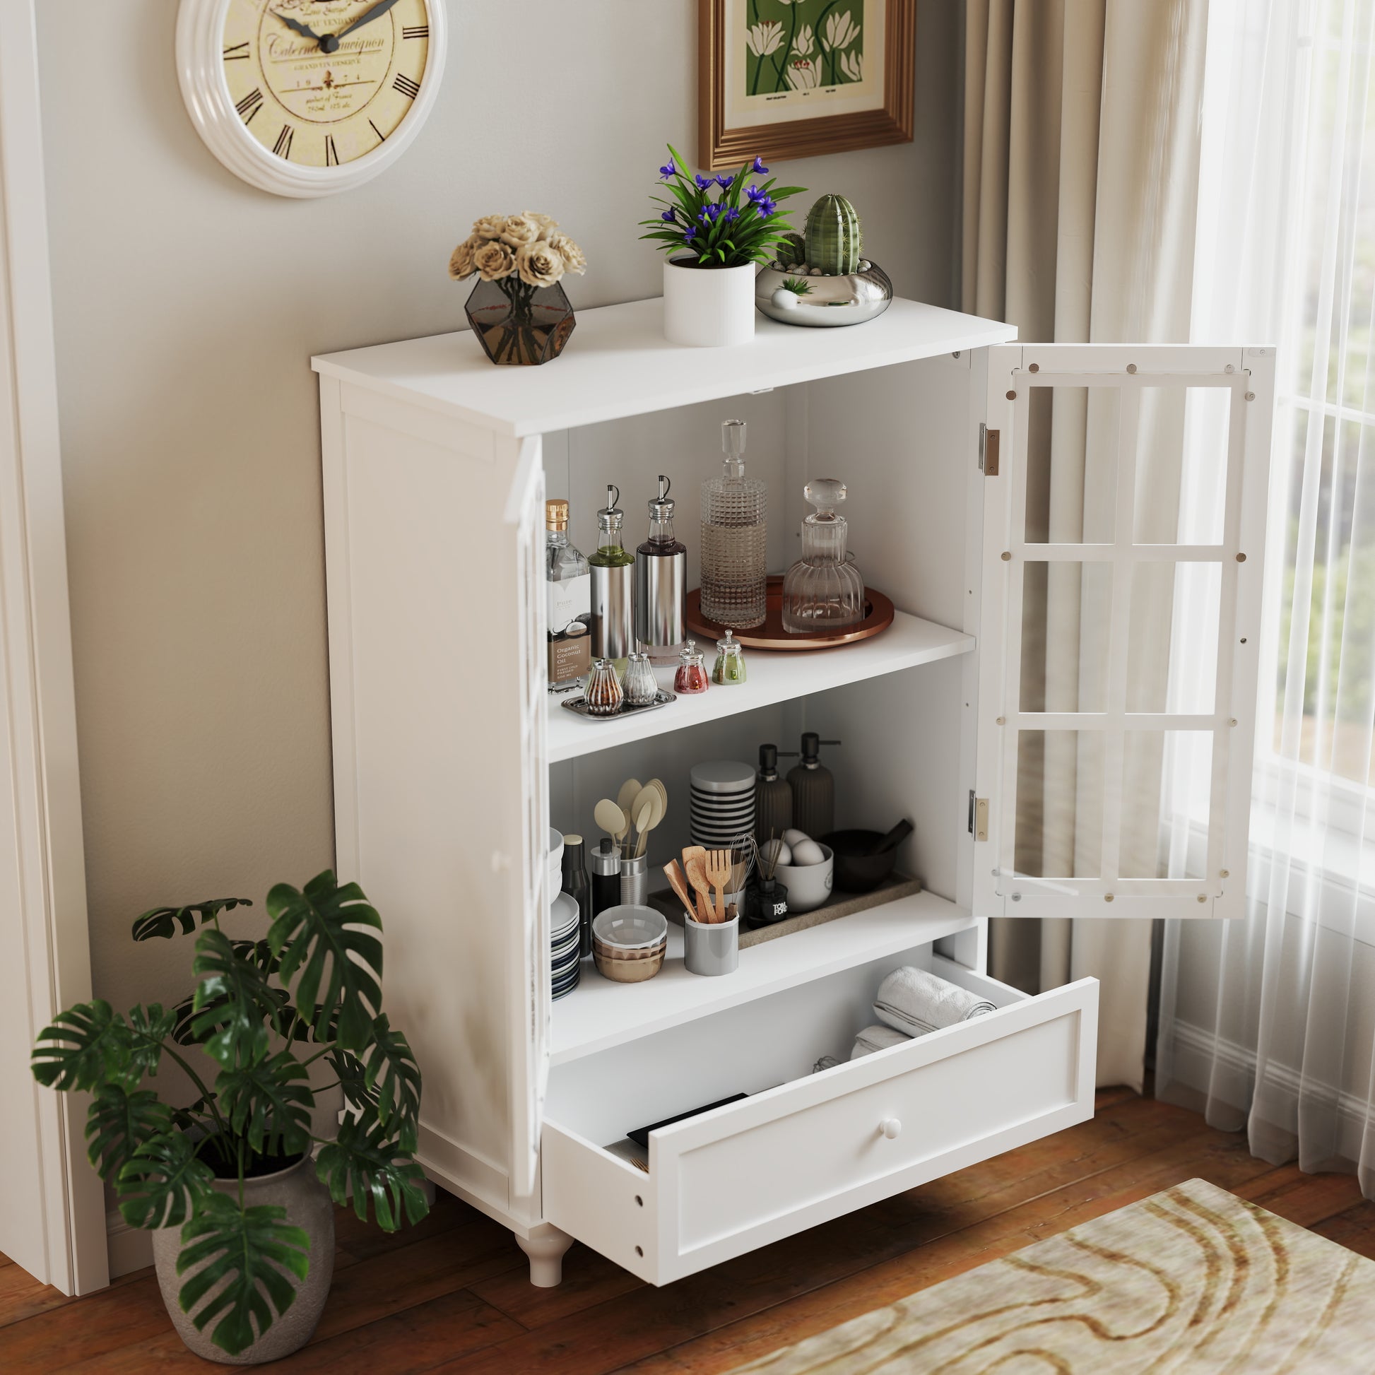
<path fill-rule="evenodd" d="M 1375 1261 L 1188 1180 L 745 1371 L 1370 1375 Z"/>

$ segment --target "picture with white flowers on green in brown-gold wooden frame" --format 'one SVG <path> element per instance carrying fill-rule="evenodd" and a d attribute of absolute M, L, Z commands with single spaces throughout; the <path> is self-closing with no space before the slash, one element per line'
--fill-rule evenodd
<path fill-rule="evenodd" d="M 697 6 L 701 166 L 912 142 L 916 0 Z"/>

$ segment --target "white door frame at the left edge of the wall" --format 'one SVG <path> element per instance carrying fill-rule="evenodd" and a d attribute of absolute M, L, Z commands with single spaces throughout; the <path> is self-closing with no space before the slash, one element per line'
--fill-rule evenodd
<path fill-rule="evenodd" d="M 0 0 L 0 1251 L 65 1294 L 109 1283 L 84 1096 L 29 1049 L 91 997 L 34 0 Z"/>

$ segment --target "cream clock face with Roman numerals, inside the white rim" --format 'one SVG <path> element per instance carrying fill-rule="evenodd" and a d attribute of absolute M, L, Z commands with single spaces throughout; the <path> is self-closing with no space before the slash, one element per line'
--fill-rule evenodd
<path fill-rule="evenodd" d="M 243 128 L 268 153 L 297 166 L 346 166 L 402 128 L 429 48 L 426 0 L 230 0 L 224 80 Z"/>

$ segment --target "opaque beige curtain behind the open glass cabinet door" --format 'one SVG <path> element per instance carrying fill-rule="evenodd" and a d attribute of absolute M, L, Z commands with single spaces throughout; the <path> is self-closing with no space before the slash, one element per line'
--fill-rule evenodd
<path fill-rule="evenodd" d="M 1206 0 L 967 0 L 964 309 L 1009 320 L 1023 340 L 1188 341 L 1206 21 Z M 1042 538 L 1078 540 L 1096 518 L 1104 484 L 1094 463 L 1111 454 L 1093 436 L 1106 421 L 1086 397 L 1060 393 L 1053 411 L 1033 415 L 1030 447 L 1041 459 L 1028 507 L 1045 524 Z M 1177 463 L 1181 417 L 1144 408 L 1141 424 L 1140 452 Z M 1173 528 L 1177 476 L 1147 463 L 1140 478 L 1151 524 Z M 1024 628 L 1034 623 L 1044 635 L 1035 690 L 1046 710 L 1088 710 L 1079 703 L 1094 690 L 1094 667 L 1079 648 L 1090 642 L 1093 590 L 1062 566 L 1040 587 L 1028 579 L 1027 597 Z M 1167 601 L 1162 617 L 1167 638 Z M 1097 799 L 1086 792 L 1079 747 L 1049 736 L 1019 764 L 1019 793 L 1038 810 L 1027 817 L 1027 803 L 1019 806 L 1019 869 L 1089 873 L 1092 828 L 1078 821 Z M 1150 752 L 1129 769 L 1143 780 L 1160 773 Z M 1023 770 L 1034 788 L 1022 788 Z M 1138 804 L 1137 833 L 1154 844 L 1158 791 L 1143 786 Z M 1067 868 L 1033 868 L 1050 855 Z M 1099 1082 L 1140 1090 L 1150 923 L 991 925 L 997 978 L 1028 991 L 1101 980 Z"/>

